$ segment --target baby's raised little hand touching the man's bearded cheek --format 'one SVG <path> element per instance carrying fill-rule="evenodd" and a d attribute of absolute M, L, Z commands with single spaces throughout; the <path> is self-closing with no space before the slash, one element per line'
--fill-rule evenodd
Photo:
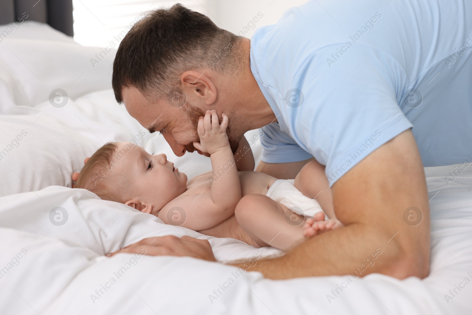
<path fill-rule="evenodd" d="M 223 148 L 229 148 L 228 135 L 226 134 L 228 116 L 226 114 L 221 116 L 223 117 L 221 125 L 215 110 L 206 111 L 205 117 L 200 117 L 197 128 L 200 143 L 194 142 L 196 149 L 213 154 Z"/>

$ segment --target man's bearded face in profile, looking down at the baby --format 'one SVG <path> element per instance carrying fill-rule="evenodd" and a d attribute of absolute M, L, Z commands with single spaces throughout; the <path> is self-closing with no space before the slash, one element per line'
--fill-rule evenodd
<path fill-rule="evenodd" d="M 150 102 L 135 87 L 123 88 L 122 95 L 126 111 L 151 133 L 160 132 L 175 155 L 182 156 L 186 151 L 196 151 L 193 143 L 200 142 L 197 126 L 199 117 L 205 116 L 202 109 L 193 106 L 188 100 L 178 98 L 170 102 L 164 99 Z M 220 121 L 221 114 L 221 112 L 218 113 Z M 231 133 L 231 119 L 227 134 L 231 149 L 233 153 L 236 153 L 243 133 L 240 135 L 237 132 Z M 207 153 L 205 155 L 209 156 Z"/>

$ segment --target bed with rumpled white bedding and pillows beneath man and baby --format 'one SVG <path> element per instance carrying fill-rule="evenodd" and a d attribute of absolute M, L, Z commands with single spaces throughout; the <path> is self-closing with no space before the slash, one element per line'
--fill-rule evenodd
<path fill-rule="evenodd" d="M 105 256 L 164 235 L 207 239 L 220 262 L 282 253 L 166 225 L 71 188 L 84 158 L 111 140 L 166 153 L 189 178 L 211 170 L 198 154 L 175 157 L 127 115 L 111 90 L 114 51 L 92 63 L 97 52 L 27 20 L 0 43 L 0 314 L 472 314 L 470 163 L 425 168 L 431 268 L 423 280 L 272 281 L 190 257 Z M 259 160 L 260 144 L 252 146 Z"/>

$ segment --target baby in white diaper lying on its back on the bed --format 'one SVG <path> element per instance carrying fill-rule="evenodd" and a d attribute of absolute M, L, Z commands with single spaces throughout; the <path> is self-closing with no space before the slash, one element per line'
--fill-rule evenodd
<path fill-rule="evenodd" d="M 307 163 L 295 181 L 238 171 L 227 126 L 228 116 L 222 114 L 219 124 L 214 110 L 198 122 L 200 143 L 194 146 L 210 154 L 212 172 L 187 181 L 165 154 L 152 155 L 132 143 L 107 143 L 85 163 L 75 187 L 153 214 L 164 223 L 255 247 L 289 250 L 306 237 L 342 226 L 319 164 Z M 297 204 L 301 199 L 303 210 Z M 320 206 L 329 220 L 324 220 Z M 302 214 L 310 211 L 313 218 L 302 224 Z"/>

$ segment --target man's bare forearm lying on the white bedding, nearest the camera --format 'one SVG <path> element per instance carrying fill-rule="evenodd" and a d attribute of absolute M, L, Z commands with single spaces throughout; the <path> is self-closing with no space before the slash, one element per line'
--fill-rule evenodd
<path fill-rule="evenodd" d="M 394 277 L 391 266 L 399 254 L 396 242 L 380 230 L 352 224 L 306 240 L 286 255 L 261 259 L 255 264 L 236 263 L 270 279 L 352 274 L 363 277 L 380 272 Z"/>

